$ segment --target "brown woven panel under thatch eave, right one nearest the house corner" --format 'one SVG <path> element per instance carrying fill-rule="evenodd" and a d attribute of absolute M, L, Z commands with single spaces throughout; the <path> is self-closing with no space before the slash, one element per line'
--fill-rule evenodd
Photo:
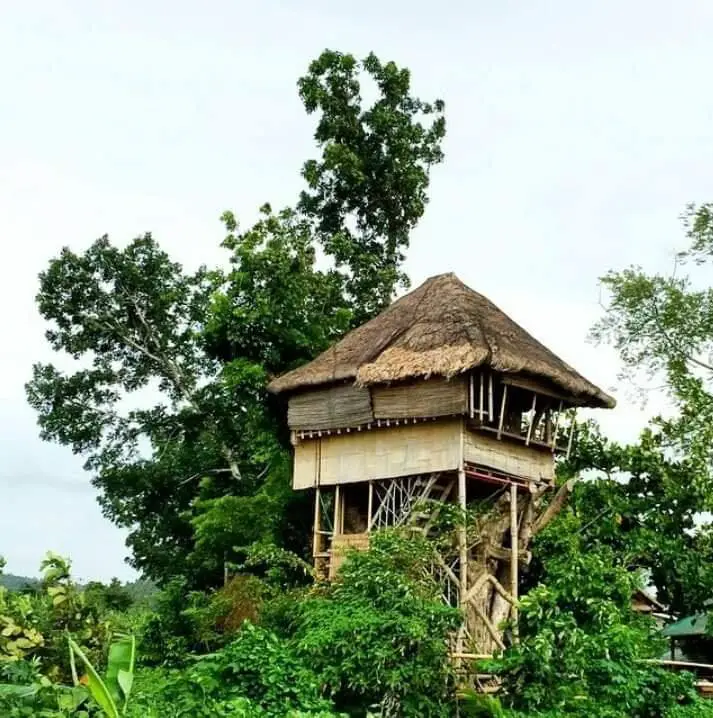
<path fill-rule="evenodd" d="M 407 419 L 465 414 L 468 387 L 465 378 L 426 379 L 407 384 L 374 386 L 371 400 L 376 419 Z"/>

